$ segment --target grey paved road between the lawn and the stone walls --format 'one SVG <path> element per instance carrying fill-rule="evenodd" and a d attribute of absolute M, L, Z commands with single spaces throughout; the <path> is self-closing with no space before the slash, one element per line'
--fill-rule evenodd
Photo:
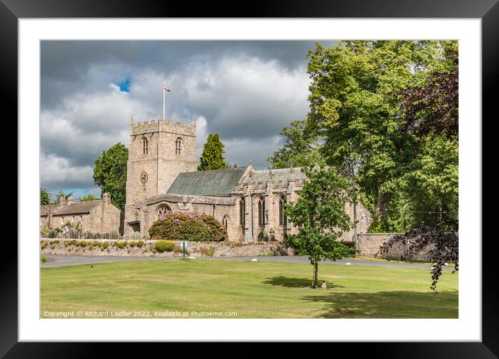
<path fill-rule="evenodd" d="M 114 257 L 114 256 L 76 256 L 76 255 L 47 255 L 49 262 L 41 264 L 42 268 L 56 267 L 56 266 L 74 266 L 78 264 L 93 264 L 93 263 L 107 263 L 107 262 L 123 262 L 129 260 L 179 260 L 181 257 Z M 198 257 L 204 260 L 252 260 L 253 257 Z M 274 256 L 274 257 L 254 257 L 261 262 L 294 262 L 294 263 L 307 263 L 309 260 L 306 256 L 298 257 L 295 255 L 290 256 Z M 353 266 L 386 266 L 397 268 L 415 268 L 415 269 L 430 269 L 431 264 L 410 264 L 410 263 L 397 263 L 397 262 L 377 262 L 370 260 L 359 260 L 355 258 L 345 258 L 336 262 L 324 261 L 324 264 L 346 265 L 351 263 Z M 452 270 L 452 267 L 445 267 L 445 270 Z"/>

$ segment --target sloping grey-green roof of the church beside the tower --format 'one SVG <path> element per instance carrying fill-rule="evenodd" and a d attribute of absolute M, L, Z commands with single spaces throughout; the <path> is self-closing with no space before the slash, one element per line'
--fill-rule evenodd
<path fill-rule="evenodd" d="M 233 192 L 246 167 L 178 173 L 167 193 L 191 196 L 223 196 Z"/>

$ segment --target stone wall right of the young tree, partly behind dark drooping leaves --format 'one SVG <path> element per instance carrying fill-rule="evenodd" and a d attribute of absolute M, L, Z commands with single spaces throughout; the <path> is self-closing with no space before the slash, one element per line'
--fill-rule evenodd
<path fill-rule="evenodd" d="M 395 237 L 402 233 L 373 233 L 373 234 L 358 234 L 358 250 L 359 255 L 362 257 L 381 258 L 383 260 L 401 260 L 402 255 L 406 254 L 407 243 L 399 246 L 393 246 L 387 253 L 380 252 L 380 246 L 388 239 Z M 410 244 L 410 243 L 409 243 Z M 429 262 L 429 251 L 433 248 L 427 246 L 424 248 L 414 260 Z"/>

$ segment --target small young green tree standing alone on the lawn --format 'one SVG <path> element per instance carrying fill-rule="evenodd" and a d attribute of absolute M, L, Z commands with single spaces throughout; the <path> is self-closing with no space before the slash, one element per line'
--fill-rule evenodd
<path fill-rule="evenodd" d="M 355 248 L 338 241 L 353 223 L 345 212 L 347 202 L 357 202 L 348 179 L 334 168 L 302 168 L 307 176 L 296 202 L 285 205 L 286 216 L 299 227 L 298 234 L 286 235 L 286 243 L 297 255 L 308 255 L 314 265 L 312 288 L 317 287 L 318 262 L 339 260 L 355 254 Z"/>

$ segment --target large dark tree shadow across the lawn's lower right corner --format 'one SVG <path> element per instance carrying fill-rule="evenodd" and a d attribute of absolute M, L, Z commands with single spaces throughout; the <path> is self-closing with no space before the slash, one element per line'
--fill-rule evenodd
<path fill-rule="evenodd" d="M 320 290 L 320 289 L 317 289 Z M 458 318 L 459 292 L 332 293 L 303 296 L 323 303 L 318 318 Z"/>

